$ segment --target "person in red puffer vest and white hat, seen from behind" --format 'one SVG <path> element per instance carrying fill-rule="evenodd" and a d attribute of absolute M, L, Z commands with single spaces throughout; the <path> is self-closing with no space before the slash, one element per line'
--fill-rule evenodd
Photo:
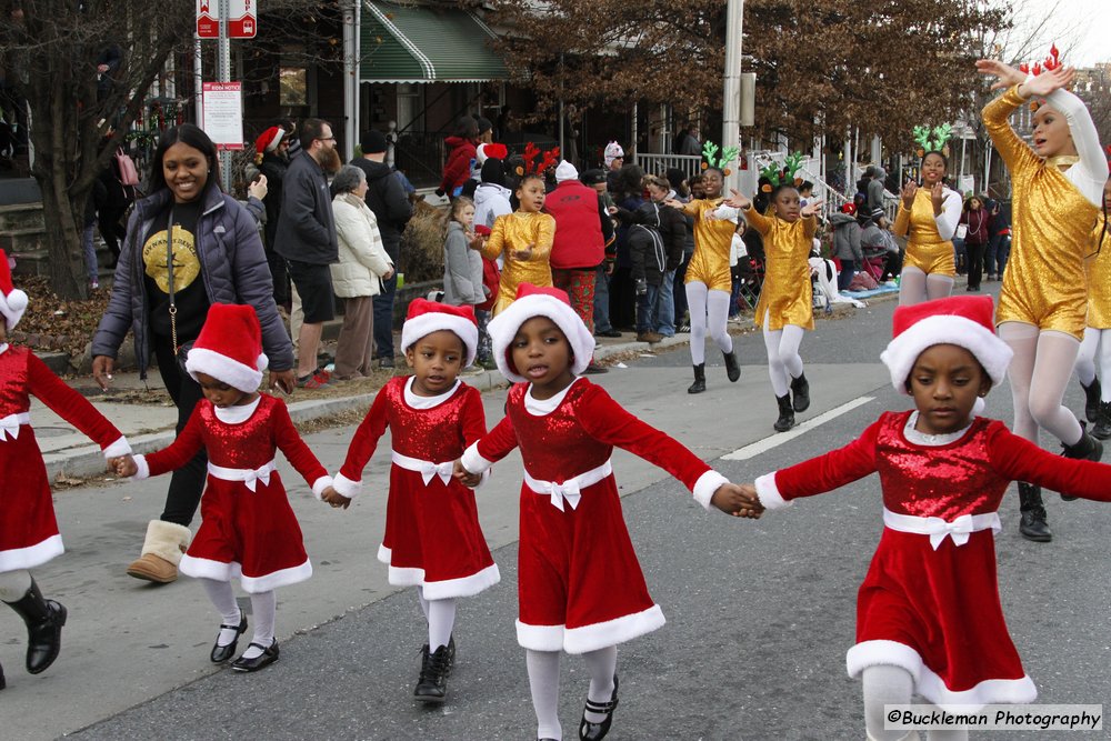
<path fill-rule="evenodd" d="M 567 160 L 556 168 L 556 190 L 544 200 L 556 219 L 556 240 L 549 257 L 552 283 L 567 291 L 571 308 L 591 333 L 594 331 L 594 280 L 605 259 L 605 244 L 613 239 L 613 221 L 601 197 L 579 181 L 579 171 Z M 591 363 L 588 373 L 604 372 Z"/>

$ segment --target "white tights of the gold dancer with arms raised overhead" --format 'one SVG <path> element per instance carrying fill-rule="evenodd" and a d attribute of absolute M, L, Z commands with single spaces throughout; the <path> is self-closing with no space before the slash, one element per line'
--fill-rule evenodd
<path fill-rule="evenodd" d="M 1065 444 L 1080 442 L 1080 422 L 1062 404 L 1080 351 L 1077 338 L 1014 321 L 1000 324 L 999 337 L 1014 351 L 1007 371 L 1014 399 L 1014 434 L 1037 444 L 1041 427 Z"/>

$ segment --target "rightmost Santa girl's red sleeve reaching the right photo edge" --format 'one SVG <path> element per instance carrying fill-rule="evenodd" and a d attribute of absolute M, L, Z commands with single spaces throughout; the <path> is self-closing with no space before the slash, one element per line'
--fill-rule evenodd
<path fill-rule="evenodd" d="M 1055 455 L 1014 434 L 1002 422 L 988 428 L 988 455 L 992 467 L 1012 481 L 1111 502 L 1111 465 Z"/>

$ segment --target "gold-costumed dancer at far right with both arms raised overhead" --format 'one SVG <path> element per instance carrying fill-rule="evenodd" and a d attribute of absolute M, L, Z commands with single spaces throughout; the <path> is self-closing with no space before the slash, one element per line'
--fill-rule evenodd
<path fill-rule="evenodd" d="M 1099 460 L 1099 440 L 1062 400 L 1084 333 L 1084 259 L 1092 253 L 1108 161 L 1084 102 L 1064 89 L 1074 70 L 1055 56 L 1034 77 L 997 60 L 977 62 L 977 71 L 998 78 L 993 90 L 1007 91 L 983 109 L 984 127 L 1011 174 L 1013 203 L 1011 259 L 995 326 L 1014 351 L 1014 433 L 1037 442 L 1042 427 L 1061 441 L 1065 457 Z M 1033 148 L 1008 121 L 1031 98 L 1040 102 Z M 1049 541 L 1040 488 L 1020 483 L 1019 499 L 1022 535 Z"/>

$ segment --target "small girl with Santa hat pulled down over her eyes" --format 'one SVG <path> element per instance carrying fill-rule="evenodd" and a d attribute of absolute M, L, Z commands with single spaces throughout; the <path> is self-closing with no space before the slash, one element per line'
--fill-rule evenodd
<path fill-rule="evenodd" d="M 286 403 L 257 391 L 266 368 L 254 309 L 213 303 L 186 360 L 204 399 L 169 448 L 117 468 L 121 475 L 146 479 L 181 468 L 202 447 L 208 451 L 203 522 L 179 568 L 200 580 L 222 618 L 209 654 L 213 663 L 231 659 L 247 631 L 231 580 L 238 578 L 251 595 L 254 637 L 231 664 L 244 672 L 278 661 L 274 589 L 312 575 L 276 451 L 281 450 L 318 499 L 331 490 L 331 477 L 293 428 Z"/>

